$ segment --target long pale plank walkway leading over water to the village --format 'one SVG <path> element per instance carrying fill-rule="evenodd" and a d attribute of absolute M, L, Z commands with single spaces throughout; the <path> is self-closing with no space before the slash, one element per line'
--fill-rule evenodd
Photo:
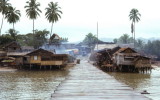
<path fill-rule="evenodd" d="M 70 70 L 66 80 L 51 95 L 51 100 L 150 99 L 83 60 Z"/>

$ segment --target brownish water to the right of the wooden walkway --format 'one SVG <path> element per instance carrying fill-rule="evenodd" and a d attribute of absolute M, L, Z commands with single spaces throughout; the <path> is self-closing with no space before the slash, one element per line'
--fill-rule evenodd
<path fill-rule="evenodd" d="M 150 94 L 144 94 L 152 100 L 160 100 L 160 68 L 152 70 L 151 74 L 137 73 L 108 73 L 115 79 L 129 85 L 139 93 L 147 90 Z"/>

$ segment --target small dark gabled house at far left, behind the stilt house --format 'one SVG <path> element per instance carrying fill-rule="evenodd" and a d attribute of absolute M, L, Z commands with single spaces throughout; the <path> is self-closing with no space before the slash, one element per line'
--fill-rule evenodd
<path fill-rule="evenodd" d="M 13 42 L 5 45 L 3 48 L 6 52 L 19 52 L 19 51 L 21 51 L 21 46 L 16 41 L 13 41 Z"/>

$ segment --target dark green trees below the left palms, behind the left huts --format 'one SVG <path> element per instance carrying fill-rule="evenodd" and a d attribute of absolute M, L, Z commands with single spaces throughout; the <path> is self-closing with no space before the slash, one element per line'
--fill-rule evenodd
<path fill-rule="evenodd" d="M 0 47 L 3 47 L 7 43 L 17 41 L 21 46 L 33 46 L 39 48 L 45 43 L 49 43 L 48 40 L 49 31 L 47 30 L 35 30 L 35 33 L 18 34 L 18 31 L 9 29 L 6 34 L 0 36 Z M 60 40 L 50 40 L 51 43 L 61 44 L 62 42 L 68 42 L 68 38 L 60 37 Z"/>

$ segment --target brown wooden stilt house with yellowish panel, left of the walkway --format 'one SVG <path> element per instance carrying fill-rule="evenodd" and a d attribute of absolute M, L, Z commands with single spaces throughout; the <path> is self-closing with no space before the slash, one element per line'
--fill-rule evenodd
<path fill-rule="evenodd" d="M 63 67 L 67 64 L 67 54 L 54 54 L 44 49 L 37 49 L 26 55 L 24 63 L 32 66 L 42 67 Z"/>

